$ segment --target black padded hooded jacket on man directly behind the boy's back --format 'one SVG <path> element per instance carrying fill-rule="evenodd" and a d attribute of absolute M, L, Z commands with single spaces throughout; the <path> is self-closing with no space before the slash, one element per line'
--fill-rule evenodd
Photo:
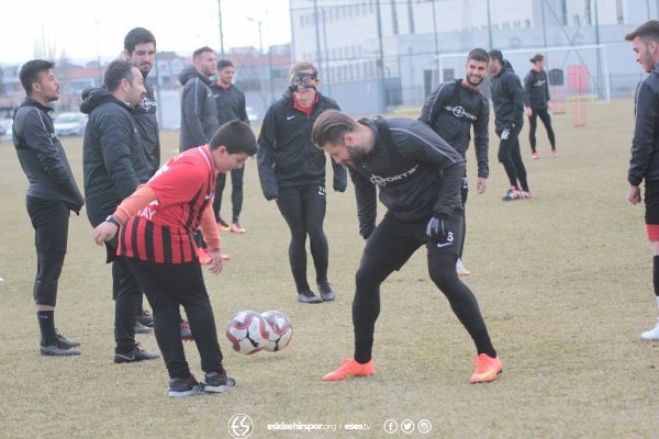
<path fill-rule="evenodd" d="M 93 227 L 149 178 L 131 108 L 105 89 L 82 91 L 89 114 L 82 140 L 87 216 Z"/>

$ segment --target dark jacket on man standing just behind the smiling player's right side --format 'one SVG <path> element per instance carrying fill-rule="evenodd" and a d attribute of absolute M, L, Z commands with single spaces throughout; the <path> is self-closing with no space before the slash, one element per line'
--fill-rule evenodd
<path fill-rule="evenodd" d="M 524 123 L 524 89 L 507 60 L 503 61 L 499 76 L 492 76 L 491 81 L 490 90 L 496 131 L 510 128 L 512 124 L 522 125 Z"/>

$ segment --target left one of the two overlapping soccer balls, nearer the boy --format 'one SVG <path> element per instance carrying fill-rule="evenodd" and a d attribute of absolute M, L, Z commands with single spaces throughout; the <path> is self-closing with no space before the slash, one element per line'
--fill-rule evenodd
<path fill-rule="evenodd" d="M 241 311 L 226 324 L 226 338 L 236 352 L 249 356 L 266 347 L 269 326 L 260 314 L 254 311 Z"/>

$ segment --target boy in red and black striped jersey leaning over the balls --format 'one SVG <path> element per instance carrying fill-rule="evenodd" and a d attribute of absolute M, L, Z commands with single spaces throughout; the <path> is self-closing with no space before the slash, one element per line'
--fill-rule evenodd
<path fill-rule="evenodd" d="M 209 145 L 172 157 L 126 198 L 94 229 L 101 245 L 119 230 L 118 255 L 125 258 L 154 311 L 155 334 L 169 372 L 169 395 L 220 393 L 235 386 L 222 364 L 215 318 L 197 258 L 192 233 L 201 227 L 213 274 L 222 272 L 220 235 L 212 200 L 219 172 L 241 168 L 256 154 L 249 125 L 222 125 Z M 205 372 L 205 383 L 190 373 L 179 334 L 179 306 L 186 309 Z"/>

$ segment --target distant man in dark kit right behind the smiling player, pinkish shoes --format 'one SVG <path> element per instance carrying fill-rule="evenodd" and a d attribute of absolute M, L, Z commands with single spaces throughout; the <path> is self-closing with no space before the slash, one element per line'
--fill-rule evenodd
<path fill-rule="evenodd" d="M 490 50 L 490 74 L 494 126 L 501 139 L 499 161 L 503 165 L 511 183 L 503 201 L 529 199 L 530 191 L 518 139 L 524 125 L 524 89 L 513 66 L 503 59 L 501 50 Z"/>

